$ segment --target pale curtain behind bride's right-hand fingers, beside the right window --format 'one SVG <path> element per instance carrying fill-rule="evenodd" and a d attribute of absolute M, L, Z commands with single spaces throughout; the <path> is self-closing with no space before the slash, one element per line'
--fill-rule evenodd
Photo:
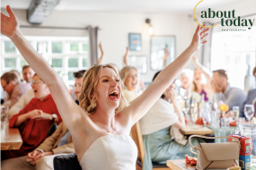
<path fill-rule="evenodd" d="M 207 26 L 213 25 L 208 21 L 204 21 L 203 24 L 206 24 Z M 213 28 L 208 30 L 207 44 L 205 44 L 202 47 L 202 57 L 201 57 L 201 64 L 203 64 L 209 70 L 211 69 L 210 65 L 211 65 L 211 44 L 212 44 L 212 32 L 213 32 L 212 30 Z"/>

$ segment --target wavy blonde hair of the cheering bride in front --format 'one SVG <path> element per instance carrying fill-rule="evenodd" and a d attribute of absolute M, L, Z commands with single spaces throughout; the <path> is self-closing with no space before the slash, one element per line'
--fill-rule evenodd
<path fill-rule="evenodd" d="M 96 106 L 97 106 L 97 98 L 98 98 L 98 90 L 96 88 L 100 72 L 102 71 L 102 68 L 110 68 L 113 69 L 114 72 L 116 72 L 118 78 L 119 73 L 115 70 L 113 65 L 111 64 L 96 64 L 93 67 L 91 67 L 88 71 L 84 73 L 83 77 L 83 84 L 82 84 L 82 91 L 81 95 L 79 96 L 79 103 L 82 108 L 84 108 L 89 114 L 92 113 Z M 125 106 L 128 106 L 128 101 L 126 100 L 124 94 L 123 94 L 123 82 L 120 81 L 121 84 L 121 90 L 120 90 L 120 103 L 119 106 L 115 109 L 115 113 L 119 113 Z M 91 95 L 93 95 L 93 98 L 91 98 Z"/>

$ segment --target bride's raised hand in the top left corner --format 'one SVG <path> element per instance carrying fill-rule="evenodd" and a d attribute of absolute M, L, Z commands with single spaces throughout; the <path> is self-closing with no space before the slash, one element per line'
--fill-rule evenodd
<path fill-rule="evenodd" d="M 1 13 L 1 34 L 8 38 L 13 38 L 14 34 L 19 30 L 19 22 L 9 5 L 6 6 L 6 10 L 10 17 Z"/>

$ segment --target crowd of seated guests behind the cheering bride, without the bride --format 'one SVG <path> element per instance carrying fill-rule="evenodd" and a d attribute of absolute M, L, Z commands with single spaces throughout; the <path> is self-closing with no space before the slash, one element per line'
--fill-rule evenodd
<path fill-rule="evenodd" d="M 124 59 L 127 66 L 120 70 L 119 76 L 124 82 L 124 96 L 128 102 L 131 102 L 139 95 L 137 68 L 128 65 L 126 55 Z M 185 126 L 184 116 L 177 103 L 177 96 L 181 89 L 186 91 L 183 96 L 187 98 L 192 98 L 193 93 L 204 94 L 205 100 L 212 102 L 223 100 L 231 108 L 241 106 L 242 111 L 245 104 L 252 103 L 252 100 L 256 101 L 256 89 L 249 91 L 246 98 L 242 89 L 230 87 L 224 70 L 211 73 L 199 64 L 195 57 L 193 61 L 197 68 L 194 72 L 190 69 L 184 69 L 181 72 L 181 87 L 177 88 L 173 81 L 140 120 L 146 147 L 144 169 L 152 168 L 151 161 L 161 163 L 167 159 L 181 159 L 185 155 L 193 156 L 187 140 L 177 137 L 179 129 Z M 78 98 L 82 90 L 84 72 L 86 71 L 74 72 L 74 100 L 77 105 L 79 105 Z M 256 68 L 253 70 L 253 75 L 256 75 L 255 72 Z M 153 81 L 159 73 L 154 74 Z M 53 158 L 57 154 L 75 152 L 72 137 L 66 125 L 62 123 L 46 83 L 29 65 L 23 66 L 22 75 L 23 81 L 14 71 L 6 72 L 1 76 L 1 85 L 8 94 L 4 105 L 10 106 L 9 126 L 18 127 L 23 140 L 21 149 L 1 151 L 1 159 L 7 159 L 2 161 L 1 167 L 3 169 L 10 167 L 19 169 L 24 166 L 27 169 L 53 169 Z M 207 79 L 204 79 L 204 76 Z M 241 113 L 241 116 L 244 116 L 243 112 Z M 49 136 L 48 130 L 53 123 L 58 124 L 57 131 Z M 192 142 L 197 145 L 204 140 L 194 138 Z"/>

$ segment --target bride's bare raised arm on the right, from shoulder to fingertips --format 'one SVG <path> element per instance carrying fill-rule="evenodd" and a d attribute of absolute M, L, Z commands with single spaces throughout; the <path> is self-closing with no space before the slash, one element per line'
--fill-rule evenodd
<path fill-rule="evenodd" d="M 130 106 L 123 110 L 124 115 L 128 115 L 131 118 L 131 125 L 137 123 L 137 121 L 146 114 L 150 107 L 154 105 L 155 101 L 161 97 L 163 91 L 170 86 L 185 65 L 188 64 L 191 56 L 198 52 L 199 47 L 207 43 L 206 40 L 203 40 L 207 37 L 207 30 L 208 29 L 203 30 L 203 27 L 198 26 L 190 47 L 177 57 L 172 64 L 165 67 L 150 86 L 138 98 L 133 100 Z"/>

